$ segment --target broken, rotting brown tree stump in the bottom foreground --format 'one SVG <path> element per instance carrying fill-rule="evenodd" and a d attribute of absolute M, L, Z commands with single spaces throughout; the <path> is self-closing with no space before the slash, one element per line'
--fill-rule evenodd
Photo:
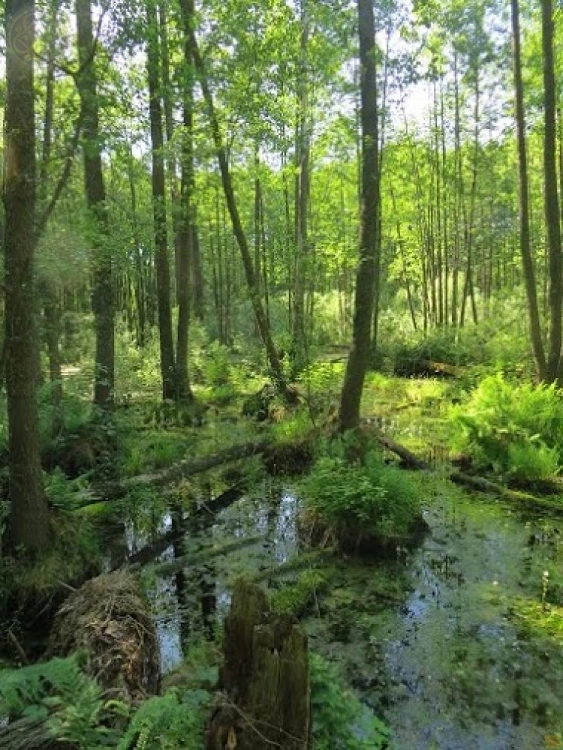
<path fill-rule="evenodd" d="M 272 614 L 258 586 L 237 581 L 224 649 L 219 686 L 231 710 L 222 706 L 213 717 L 208 750 L 307 750 L 309 651 L 299 624 Z"/>

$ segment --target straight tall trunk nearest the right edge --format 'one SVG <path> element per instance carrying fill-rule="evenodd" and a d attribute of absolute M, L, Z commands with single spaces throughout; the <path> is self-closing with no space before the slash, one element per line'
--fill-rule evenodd
<path fill-rule="evenodd" d="M 544 85 L 544 195 L 545 223 L 547 228 L 547 254 L 549 261 L 549 349 L 546 380 L 550 383 L 562 378 L 561 342 L 563 310 L 563 278 L 561 255 L 561 224 L 557 191 L 557 130 L 556 84 L 553 53 L 553 3 L 542 0 L 542 49 Z"/>

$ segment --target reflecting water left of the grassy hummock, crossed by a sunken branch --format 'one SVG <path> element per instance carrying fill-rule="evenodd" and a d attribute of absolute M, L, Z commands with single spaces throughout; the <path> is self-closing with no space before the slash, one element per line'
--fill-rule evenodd
<path fill-rule="evenodd" d="M 211 497 L 202 506 L 211 507 Z M 276 489 L 265 497 L 243 496 L 216 515 L 202 513 L 183 517 L 172 512 L 162 528 L 177 538 L 157 556 L 157 561 L 178 560 L 206 547 L 260 535 L 262 540 L 228 557 L 197 565 L 184 565 L 169 577 L 151 582 L 149 596 L 156 617 L 164 671 L 177 666 L 191 643 L 215 638 L 231 601 L 231 587 L 239 575 L 275 568 L 298 550 L 297 499 Z M 137 553 L 141 554 L 141 553 Z"/>

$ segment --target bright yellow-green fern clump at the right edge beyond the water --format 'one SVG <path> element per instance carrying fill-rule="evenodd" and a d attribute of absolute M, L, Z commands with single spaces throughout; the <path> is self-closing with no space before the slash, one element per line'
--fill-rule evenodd
<path fill-rule="evenodd" d="M 561 468 L 563 401 L 554 385 L 513 385 L 485 378 L 451 411 L 455 448 L 481 469 L 517 479 L 542 479 Z"/>

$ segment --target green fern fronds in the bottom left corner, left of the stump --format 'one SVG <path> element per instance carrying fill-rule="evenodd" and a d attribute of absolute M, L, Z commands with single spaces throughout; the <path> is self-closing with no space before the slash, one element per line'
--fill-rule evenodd
<path fill-rule="evenodd" d="M 78 750 L 200 750 L 210 701 L 206 690 L 172 688 L 132 709 L 104 695 L 79 655 L 0 670 L 0 719 L 17 722 L 22 747 L 39 735 Z"/>

